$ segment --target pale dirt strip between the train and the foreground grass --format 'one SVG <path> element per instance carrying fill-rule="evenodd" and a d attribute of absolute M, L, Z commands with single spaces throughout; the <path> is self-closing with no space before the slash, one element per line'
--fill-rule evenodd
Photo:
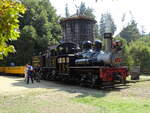
<path fill-rule="evenodd" d="M 105 92 L 111 91 L 111 93 L 116 93 L 119 91 L 122 95 L 135 94 L 141 97 L 150 97 L 150 77 L 142 79 L 140 82 L 131 82 L 126 86 L 120 86 L 115 89 L 104 90 Z M 136 83 L 136 84 L 135 84 Z M 96 94 L 99 93 L 98 89 L 85 88 L 80 86 L 68 85 L 63 83 L 57 83 L 52 81 L 41 81 L 26 84 L 23 77 L 16 76 L 0 76 L 0 93 L 15 93 L 23 90 L 33 90 L 41 88 L 49 88 L 53 90 L 62 90 L 72 92 L 75 95 L 78 93 L 86 94 Z"/>

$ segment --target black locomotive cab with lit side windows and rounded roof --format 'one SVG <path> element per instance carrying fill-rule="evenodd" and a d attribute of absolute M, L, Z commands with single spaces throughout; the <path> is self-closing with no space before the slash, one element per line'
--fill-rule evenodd
<path fill-rule="evenodd" d="M 59 75 L 69 74 L 69 66 L 74 65 L 78 48 L 75 43 L 62 43 L 57 46 L 56 69 Z"/>

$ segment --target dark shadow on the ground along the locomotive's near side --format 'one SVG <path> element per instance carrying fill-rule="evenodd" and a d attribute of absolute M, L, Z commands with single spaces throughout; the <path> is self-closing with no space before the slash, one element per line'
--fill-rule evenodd
<path fill-rule="evenodd" d="M 130 85 L 122 86 L 116 85 L 111 88 L 89 88 L 89 87 L 81 87 L 79 85 L 70 85 L 62 82 L 54 82 L 54 81 L 44 81 L 36 82 L 32 84 L 31 81 L 29 84 L 26 84 L 23 77 L 17 76 L 5 76 L 6 78 L 13 79 L 14 81 L 11 83 L 15 87 L 25 87 L 25 88 L 46 88 L 46 89 L 54 89 L 55 91 L 63 91 L 68 92 L 70 94 L 77 94 L 77 98 L 92 96 L 96 98 L 104 97 L 108 93 L 112 91 L 120 91 L 126 88 L 129 88 Z"/>

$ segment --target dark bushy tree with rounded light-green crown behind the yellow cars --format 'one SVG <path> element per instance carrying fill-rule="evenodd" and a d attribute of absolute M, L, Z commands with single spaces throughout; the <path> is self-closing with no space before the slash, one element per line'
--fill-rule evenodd
<path fill-rule="evenodd" d="M 36 30 L 32 25 L 26 25 L 21 31 L 21 38 L 13 42 L 16 48 L 15 54 L 10 54 L 6 59 L 6 65 L 14 62 L 16 65 L 24 65 L 30 62 L 34 54 Z"/>

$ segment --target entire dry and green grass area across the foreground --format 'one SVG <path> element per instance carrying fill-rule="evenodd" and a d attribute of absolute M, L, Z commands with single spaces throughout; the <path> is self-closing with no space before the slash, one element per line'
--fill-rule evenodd
<path fill-rule="evenodd" d="M 129 88 L 118 91 L 97 90 L 76 95 L 41 88 L 0 94 L 0 113 L 72 113 L 71 110 L 73 113 L 87 113 L 78 111 L 81 105 L 95 109 L 94 113 L 150 113 L 149 78 L 142 76 L 139 82 L 130 83 Z M 67 97 L 69 94 L 76 96 Z"/>

